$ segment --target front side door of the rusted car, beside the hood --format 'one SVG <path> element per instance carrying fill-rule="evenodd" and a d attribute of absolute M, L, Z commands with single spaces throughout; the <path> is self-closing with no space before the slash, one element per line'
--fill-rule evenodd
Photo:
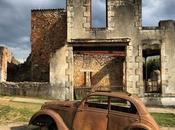
<path fill-rule="evenodd" d="M 107 130 L 108 96 L 89 96 L 77 110 L 74 130 Z"/>

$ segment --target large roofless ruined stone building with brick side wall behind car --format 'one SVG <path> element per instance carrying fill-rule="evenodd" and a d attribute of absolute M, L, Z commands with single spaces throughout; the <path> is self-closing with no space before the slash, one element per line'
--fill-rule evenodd
<path fill-rule="evenodd" d="M 72 100 L 75 88 L 100 87 L 175 105 L 175 21 L 144 27 L 142 0 L 106 0 L 105 24 L 94 27 L 92 1 L 32 10 L 31 81 L 50 82 L 58 99 Z M 152 56 L 160 57 L 160 69 L 148 75 L 144 64 Z"/>

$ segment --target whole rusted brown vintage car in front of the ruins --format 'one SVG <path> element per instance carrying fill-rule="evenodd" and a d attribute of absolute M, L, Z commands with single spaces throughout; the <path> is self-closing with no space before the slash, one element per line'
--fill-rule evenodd
<path fill-rule="evenodd" d="M 29 125 L 41 130 L 160 130 L 139 98 L 121 92 L 93 92 L 82 101 L 47 102 Z"/>

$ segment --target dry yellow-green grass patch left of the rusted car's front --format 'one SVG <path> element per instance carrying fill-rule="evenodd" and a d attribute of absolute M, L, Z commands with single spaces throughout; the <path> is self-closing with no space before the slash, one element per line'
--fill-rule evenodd
<path fill-rule="evenodd" d="M 6 102 L 0 105 L 0 124 L 28 122 L 40 109 L 40 104 Z"/>

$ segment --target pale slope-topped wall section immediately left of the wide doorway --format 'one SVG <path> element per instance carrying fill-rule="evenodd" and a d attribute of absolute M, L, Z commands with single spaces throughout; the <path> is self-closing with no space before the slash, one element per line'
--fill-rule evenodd
<path fill-rule="evenodd" d="M 65 45 L 57 50 L 50 60 L 50 96 L 56 99 L 73 100 L 73 50 Z"/>

